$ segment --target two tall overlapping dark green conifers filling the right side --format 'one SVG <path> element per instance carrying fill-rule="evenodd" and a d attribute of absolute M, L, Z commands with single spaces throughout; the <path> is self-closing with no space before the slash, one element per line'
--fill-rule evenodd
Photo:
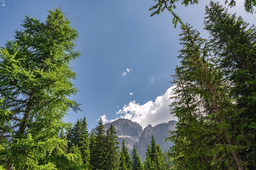
<path fill-rule="evenodd" d="M 246 31 L 248 24 L 218 3 L 211 2 L 206 14 L 211 39 L 200 38 L 189 25 L 182 28 L 171 104 L 179 122 L 168 138 L 175 143 L 173 168 L 254 169 L 255 157 L 248 155 L 255 153 L 255 129 L 249 125 L 255 121 L 256 31 Z"/>

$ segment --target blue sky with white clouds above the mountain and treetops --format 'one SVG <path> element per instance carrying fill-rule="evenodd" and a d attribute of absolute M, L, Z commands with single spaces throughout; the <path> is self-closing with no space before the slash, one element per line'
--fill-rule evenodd
<path fill-rule="evenodd" d="M 202 0 L 201 0 L 202 1 Z M 223 1 L 221 1 L 223 2 Z M 137 121 L 144 128 L 175 117 L 168 104 L 172 95 L 171 76 L 180 46 L 180 27 L 173 28 L 172 16 L 165 11 L 150 17 L 148 9 L 154 0 L 0 0 L 0 46 L 13 40 L 15 30 L 22 27 L 25 15 L 40 19 L 47 10 L 61 6 L 79 31 L 76 50 L 80 59 L 72 62 L 77 73 L 74 85 L 79 89 L 72 96 L 83 112 L 70 112 L 64 121 L 75 123 L 84 116 L 88 130 L 95 128 L 98 119 L 104 122 L 119 117 Z M 207 38 L 202 30 L 204 0 L 184 7 L 177 4 L 176 13 Z M 230 9 L 254 24 L 255 14 L 244 11 L 243 2 Z"/>

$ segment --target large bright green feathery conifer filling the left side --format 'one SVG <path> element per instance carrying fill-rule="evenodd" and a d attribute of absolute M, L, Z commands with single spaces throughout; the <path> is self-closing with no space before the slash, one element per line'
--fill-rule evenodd
<path fill-rule="evenodd" d="M 70 62 L 80 55 L 78 32 L 60 9 L 45 22 L 26 16 L 22 27 L 0 49 L 0 163 L 7 170 L 56 169 L 53 154 L 68 157 L 58 137 L 68 127 L 62 119 L 79 110 L 69 99 L 77 93 Z"/>

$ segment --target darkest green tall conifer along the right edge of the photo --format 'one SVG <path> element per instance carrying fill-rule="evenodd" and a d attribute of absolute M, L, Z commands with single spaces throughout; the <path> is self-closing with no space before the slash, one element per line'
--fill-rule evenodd
<path fill-rule="evenodd" d="M 256 167 L 256 28 L 243 18 L 230 14 L 218 3 L 206 8 L 204 29 L 211 36 L 214 57 L 225 77 L 231 82 L 230 95 L 239 110 L 236 142 L 246 146 L 240 150 L 248 169 Z M 218 16 L 218 17 L 217 17 Z"/>

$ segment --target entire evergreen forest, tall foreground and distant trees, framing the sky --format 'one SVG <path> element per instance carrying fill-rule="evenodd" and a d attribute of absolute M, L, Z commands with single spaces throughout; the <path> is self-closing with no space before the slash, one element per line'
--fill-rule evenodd
<path fill-rule="evenodd" d="M 167 9 L 181 24 L 180 65 L 171 83 L 175 95 L 170 131 L 175 146 L 162 151 L 154 136 L 141 161 L 115 127 L 89 135 L 87 120 L 63 121 L 80 105 L 70 96 L 76 73 L 71 62 L 78 31 L 61 9 L 47 19 L 25 17 L 22 30 L 0 48 L 0 170 L 255 170 L 256 169 L 256 28 L 219 2 L 205 7 L 202 38 L 173 12 L 177 0 L 156 0 L 152 15 Z M 198 1 L 183 0 L 186 5 Z M 235 1 L 229 3 L 235 5 Z M 245 3 L 254 12 L 255 0 Z"/>

